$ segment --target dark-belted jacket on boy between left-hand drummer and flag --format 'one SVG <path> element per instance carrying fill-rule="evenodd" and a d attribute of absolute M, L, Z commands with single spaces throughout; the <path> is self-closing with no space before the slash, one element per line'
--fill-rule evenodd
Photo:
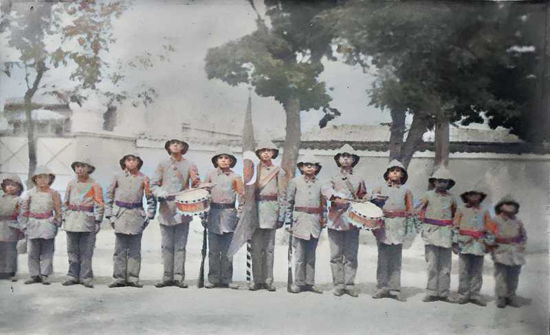
<path fill-rule="evenodd" d="M 221 235 L 235 230 L 239 221 L 235 201 L 239 201 L 239 212 L 243 206 L 244 186 L 240 175 L 233 171 L 223 172 L 217 168 L 210 171 L 204 183 L 216 183 L 210 190 L 210 210 L 208 210 L 208 231 Z M 217 204 L 228 208 L 219 208 Z"/>

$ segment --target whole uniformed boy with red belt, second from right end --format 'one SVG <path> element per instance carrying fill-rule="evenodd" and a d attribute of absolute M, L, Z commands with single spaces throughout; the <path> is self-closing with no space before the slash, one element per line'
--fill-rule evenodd
<path fill-rule="evenodd" d="M 481 208 L 486 196 L 480 191 L 462 193 L 463 205 L 454 215 L 452 249 L 460 257 L 458 302 L 461 304 L 472 301 L 476 305 L 486 305 L 479 294 L 483 284 L 483 257 L 486 242 L 494 239 L 489 212 Z"/>

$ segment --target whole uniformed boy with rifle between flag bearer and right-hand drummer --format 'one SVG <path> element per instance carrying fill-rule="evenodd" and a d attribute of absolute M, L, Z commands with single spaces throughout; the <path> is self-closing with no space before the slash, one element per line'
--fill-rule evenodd
<path fill-rule="evenodd" d="M 289 182 L 286 196 L 285 224 L 294 237 L 296 272 L 292 293 L 322 293 L 315 284 L 315 253 L 321 229 L 327 221 L 327 200 L 321 193 L 321 182 L 316 175 L 321 164 L 313 155 L 298 160 L 301 175 Z"/>

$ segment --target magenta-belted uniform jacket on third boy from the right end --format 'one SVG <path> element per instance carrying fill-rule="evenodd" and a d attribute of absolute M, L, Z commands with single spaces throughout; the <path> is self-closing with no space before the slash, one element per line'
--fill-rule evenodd
<path fill-rule="evenodd" d="M 424 244 L 451 248 L 452 246 L 452 219 L 456 211 L 456 199 L 449 192 L 437 193 L 428 191 L 420 199 L 419 208 L 423 224 L 421 225 L 421 236 Z M 422 213 L 423 212 L 423 213 Z M 445 226 L 430 224 L 427 222 L 448 222 Z"/>

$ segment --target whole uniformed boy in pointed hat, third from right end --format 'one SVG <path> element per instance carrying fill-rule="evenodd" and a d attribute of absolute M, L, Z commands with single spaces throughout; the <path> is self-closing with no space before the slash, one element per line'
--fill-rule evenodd
<path fill-rule="evenodd" d="M 417 209 L 421 217 L 421 236 L 428 262 L 428 285 L 422 301 L 449 300 L 451 282 L 452 219 L 456 211 L 456 199 L 448 190 L 454 186 L 453 177 L 441 166 L 430 177 L 434 189 L 420 199 Z"/>

